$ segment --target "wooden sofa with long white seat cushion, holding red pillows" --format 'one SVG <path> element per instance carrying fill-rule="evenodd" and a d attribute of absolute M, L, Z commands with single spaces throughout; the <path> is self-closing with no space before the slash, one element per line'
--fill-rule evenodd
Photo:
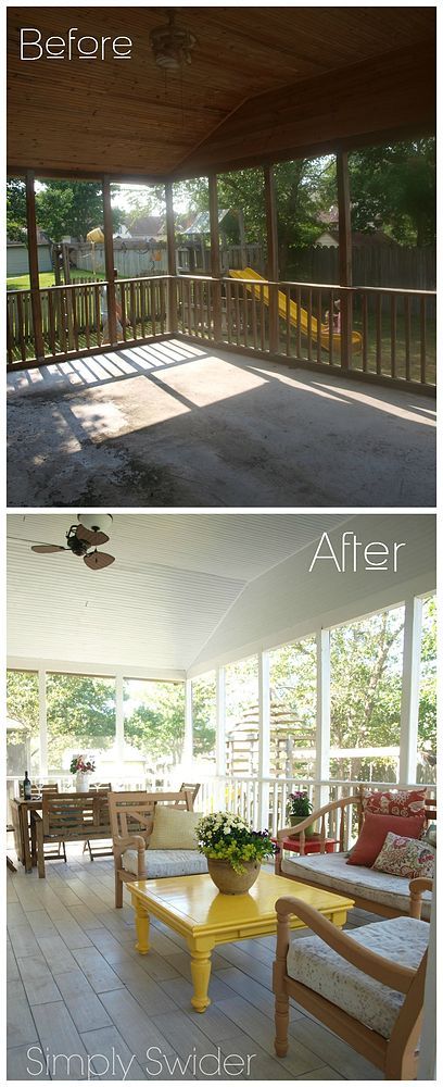
<path fill-rule="evenodd" d="M 362 865 L 346 864 L 346 847 L 351 838 L 351 829 L 356 826 L 359 834 L 363 826 L 363 796 L 362 788 L 352 796 L 325 804 L 324 808 L 308 815 L 303 823 L 299 823 L 296 834 L 300 837 L 300 855 L 294 858 L 291 854 L 291 859 L 281 861 L 281 875 L 286 878 L 296 879 L 298 883 L 320 887 L 322 890 L 337 890 L 346 894 L 354 899 L 358 909 L 368 910 L 370 913 L 377 913 L 383 917 L 407 916 L 409 913 L 408 879 Z M 425 805 L 427 810 L 426 822 L 429 823 L 436 819 L 436 801 L 430 798 L 426 799 Z M 313 823 L 319 824 L 320 850 L 317 853 L 304 855 L 307 840 L 305 832 Z M 338 839 L 339 850 L 334 853 L 327 853 L 325 842 L 331 823 L 337 829 L 330 837 Z M 291 832 L 294 834 L 293 827 L 284 827 L 279 830 L 277 845 L 282 842 L 283 838 Z M 430 917 L 429 894 L 423 896 L 422 917 L 425 921 L 429 921 Z"/>

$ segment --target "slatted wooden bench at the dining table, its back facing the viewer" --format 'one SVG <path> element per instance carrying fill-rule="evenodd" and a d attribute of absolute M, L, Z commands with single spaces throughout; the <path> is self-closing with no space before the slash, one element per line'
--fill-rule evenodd
<path fill-rule="evenodd" d="M 42 814 L 30 814 L 33 853 L 37 846 L 37 867 L 45 879 L 45 845 L 66 841 L 88 841 L 110 838 L 111 825 L 107 796 L 92 792 L 61 792 L 42 795 Z"/>

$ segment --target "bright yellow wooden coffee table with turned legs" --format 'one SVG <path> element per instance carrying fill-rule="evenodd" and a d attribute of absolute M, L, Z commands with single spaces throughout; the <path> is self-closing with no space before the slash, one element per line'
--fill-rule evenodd
<path fill-rule="evenodd" d="M 136 911 L 136 949 L 140 954 L 149 952 L 151 915 L 185 936 L 191 952 L 191 1003 L 198 1012 L 204 1012 L 211 1003 L 207 987 L 213 948 L 218 944 L 275 933 L 278 898 L 283 895 L 301 898 L 339 928 L 346 921 L 347 910 L 354 905 L 350 898 L 264 871 L 246 895 L 220 895 L 208 875 L 138 879 L 127 884 L 127 888 Z M 290 925 L 291 928 L 304 927 L 295 916 L 290 919 Z"/>

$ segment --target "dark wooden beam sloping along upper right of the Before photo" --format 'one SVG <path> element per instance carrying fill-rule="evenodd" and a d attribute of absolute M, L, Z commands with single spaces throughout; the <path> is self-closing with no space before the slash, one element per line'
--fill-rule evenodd
<path fill-rule="evenodd" d="M 435 128 L 434 42 L 250 99 L 175 171 L 178 178 L 325 154 Z"/>

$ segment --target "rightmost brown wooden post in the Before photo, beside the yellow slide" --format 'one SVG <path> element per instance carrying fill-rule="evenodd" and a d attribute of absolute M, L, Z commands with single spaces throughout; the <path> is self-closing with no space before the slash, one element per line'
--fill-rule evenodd
<path fill-rule="evenodd" d="M 351 198 L 347 152 L 337 154 L 337 189 L 339 199 L 339 276 L 341 287 L 352 287 L 352 233 Z M 352 293 L 340 295 L 341 313 L 341 367 L 350 370 L 352 363 Z"/>

